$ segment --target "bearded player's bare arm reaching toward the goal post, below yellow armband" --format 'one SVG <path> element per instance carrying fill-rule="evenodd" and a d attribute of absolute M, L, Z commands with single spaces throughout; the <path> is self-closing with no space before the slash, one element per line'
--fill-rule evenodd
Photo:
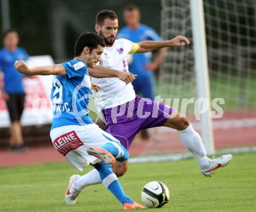
<path fill-rule="evenodd" d="M 136 53 L 151 52 L 163 47 L 185 46 L 189 44 L 189 39 L 187 39 L 185 36 L 177 35 L 175 38 L 168 41 L 142 41 L 138 43 L 138 49 Z"/>

